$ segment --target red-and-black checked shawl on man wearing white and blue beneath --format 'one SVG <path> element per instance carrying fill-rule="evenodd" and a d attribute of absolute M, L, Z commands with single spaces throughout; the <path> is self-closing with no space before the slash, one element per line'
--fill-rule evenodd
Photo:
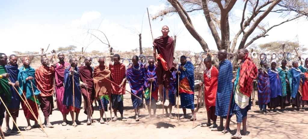
<path fill-rule="evenodd" d="M 248 57 L 243 63 L 241 63 L 239 84 L 241 92 L 250 96 L 253 88 L 253 80 L 257 78 L 258 69 L 255 63 Z"/>

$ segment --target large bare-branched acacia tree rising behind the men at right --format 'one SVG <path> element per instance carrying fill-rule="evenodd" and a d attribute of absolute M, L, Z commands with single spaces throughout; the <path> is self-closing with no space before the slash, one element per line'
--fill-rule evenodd
<path fill-rule="evenodd" d="M 307 0 L 244 0 L 241 28 L 232 35 L 234 38 L 230 40 L 229 15 L 236 2 L 237 0 L 168 0 L 165 9 L 153 15 L 152 19 L 161 18 L 162 20 L 165 16 L 177 13 L 188 32 L 200 43 L 202 49 L 206 50 L 209 49 L 206 40 L 194 28 L 190 18 L 193 13 L 202 11 L 217 49 L 233 52 L 236 46 L 238 49 L 246 48 L 255 40 L 268 36 L 266 33 L 274 27 L 308 15 Z M 249 13 L 245 14 L 245 12 Z M 267 27 L 268 23 L 262 21 L 271 12 L 280 14 L 278 16 L 283 17 L 285 21 Z M 245 17 L 245 15 L 248 16 Z M 237 44 L 238 39 L 241 39 L 239 44 Z"/>

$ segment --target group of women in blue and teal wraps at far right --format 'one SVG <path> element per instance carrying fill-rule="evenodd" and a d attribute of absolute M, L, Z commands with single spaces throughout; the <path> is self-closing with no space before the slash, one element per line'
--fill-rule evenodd
<path fill-rule="evenodd" d="M 278 68 L 276 61 L 272 61 L 269 68 L 266 62 L 260 63 L 258 103 L 261 113 L 267 113 L 266 106 L 270 108 L 270 113 L 279 113 L 277 107 L 280 107 L 281 112 L 288 112 L 286 107 L 291 105 L 293 112 L 305 111 L 304 105 L 308 101 L 308 58 L 301 66 L 294 61 L 289 68 L 286 63 L 283 59 Z"/>

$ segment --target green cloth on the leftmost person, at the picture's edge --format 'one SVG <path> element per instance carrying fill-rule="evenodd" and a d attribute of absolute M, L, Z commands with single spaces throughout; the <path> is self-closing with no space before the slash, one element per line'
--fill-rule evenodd
<path fill-rule="evenodd" d="M 6 73 L 6 68 L 3 66 L 0 66 L 0 74 Z M 6 104 L 9 104 L 12 98 L 12 94 L 10 92 L 10 85 L 8 78 L 1 78 L 0 79 L 0 94 L 4 93 L 4 96 L 6 98 Z M 4 100 L 3 100 L 4 101 Z"/>

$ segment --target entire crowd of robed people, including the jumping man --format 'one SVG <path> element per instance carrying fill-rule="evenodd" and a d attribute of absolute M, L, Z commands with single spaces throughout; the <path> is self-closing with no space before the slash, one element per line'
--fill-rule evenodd
<path fill-rule="evenodd" d="M 154 58 L 148 59 L 148 64 L 139 62 L 138 56 L 132 57 L 132 63 L 128 68 L 120 63 L 120 55 L 113 55 L 113 62 L 105 63 L 103 57 L 99 58 L 99 65 L 92 68 L 91 58 L 86 57 L 83 65 L 78 66 L 76 58 L 64 61 L 64 54 L 59 53 L 59 62 L 50 63 L 46 57 L 41 58 L 42 66 L 34 69 L 30 67 L 30 59 L 22 59 L 22 67 L 18 68 L 17 56 L 0 54 L 0 97 L 3 101 L 0 104 L 0 125 L 3 118 L 6 119 L 6 133 L 17 130 L 30 130 L 32 128 L 54 126 L 50 123 L 49 116 L 54 108 L 53 94 L 55 92 L 57 108 L 63 115 L 61 125 L 81 125 L 79 113 L 84 102 L 84 113 L 87 115 L 87 125 L 91 125 L 93 119 L 93 102 L 99 104 L 100 119 L 103 124 L 106 121 L 127 121 L 123 116 L 123 95 L 131 94 L 132 105 L 135 111 L 135 120 L 139 121 L 139 110 L 145 104 L 148 106 L 149 115 L 145 118 L 160 118 L 156 114 L 157 105 L 163 105 L 164 117 L 171 119 L 172 106 L 176 104 L 176 96 L 179 96 L 183 114 L 179 119 L 188 118 L 186 109 L 190 109 L 191 121 L 197 119 L 194 108 L 194 67 L 193 63 L 186 60 L 183 55 L 180 57 L 180 65 L 173 63 L 174 41 L 168 36 L 169 28 L 164 26 L 161 30 L 162 36 L 153 42 Z M 156 54 L 157 51 L 157 54 Z M 253 80 L 258 77 L 258 102 L 260 112 L 266 113 L 266 106 L 270 112 L 286 112 L 286 106 L 292 104 L 294 112 L 302 111 L 300 105 L 305 104 L 308 83 L 307 77 L 308 59 L 305 65 L 298 67 L 293 62 L 290 70 L 286 67 L 286 61 L 276 69 L 276 62 L 271 63 L 267 70 L 265 62 L 261 62 L 261 68 L 257 69 L 256 64 L 248 57 L 247 49 L 240 49 L 237 57 L 241 60 L 237 75 L 233 78 L 233 65 L 227 59 L 227 51 L 218 51 L 220 65 L 218 68 L 212 65 L 212 59 L 204 59 L 205 71 L 204 81 L 200 86 L 205 88 L 205 104 L 207 110 L 207 123 L 201 127 L 209 127 L 212 131 L 230 132 L 229 128 L 232 113 L 237 119 L 236 134 L 232 138 L 241 138 L 241 135 L 248 135 L 246 129 L 247 112 L 251 109 L 250 95 L 253 90 Z M 9 59 L 9 63 L 7 60 Z M 304 76 L 305 75 L 305 76 Z M 302 80 L 301 80 L 302 79 Z M 126 81 L 130 88 L 126 89 Z M 129 91 L 128 91 L 129 90 Z M 292 99 L 291 99 L 292 98 Z M 11 118 L 16 121 L 19 106 L 22 106 L 27 120 L 27 127 L 19 129 L 13 125 L 10 129 Z M 103 118 L 104 113 L 113 110 L 114 117 Z M 5 106 L 7 108 L 5 108 Z M 43 112 L 44 123 L 38 122 L 39 107 Z M 153 114 L 152 114 L 153 109 Z M 165 110 L 165 113 L 164 113 Z M 169 110 L 169 111 L 168 111 Z M 120 112 L 118 118 L 117 111 Z M 5 113 L 6 112 L 6 113 Z M 70 113 L 72 121 L 67 120 Z M 106 115 L 106 114 L 105 114 Z M 216 124 L 217 116 L 220 117 L 220 125 Z M 226 119 L 224 130 L 223 120 Z M 30 120 L 34 121 L 31 126 Z M 213 123 L 211 122 L 213 121 Z M 242 130 L 241 130 L 242 125 Z"/>

